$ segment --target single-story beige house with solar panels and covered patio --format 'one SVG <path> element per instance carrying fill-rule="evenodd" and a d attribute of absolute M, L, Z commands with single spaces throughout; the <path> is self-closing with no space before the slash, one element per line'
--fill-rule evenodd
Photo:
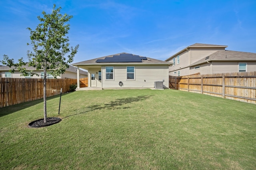
<path fill-rule="evenodd" d="M 88 70 L 88 87 L 141 89 L 154 88 L 155 82 L 160 82 L 162 88 L 168 89 L 168 66 L 172 63 L 130 53 L 118 53 L 72 65 Z"/>

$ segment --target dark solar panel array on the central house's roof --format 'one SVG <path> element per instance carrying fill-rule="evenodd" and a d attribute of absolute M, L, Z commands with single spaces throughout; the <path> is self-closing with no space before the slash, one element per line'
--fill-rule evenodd
<path fill-rule="evenodd" d="M 132 54 L 120 54 L 120 55 L 113 55 L 113 57 L 105 57 L 105 59 L 97 59 L 96 63 L 142 62 L 142 59 L 146 60 L 147 57 L 140 57 L 139 55 L 132 55 Z"/>

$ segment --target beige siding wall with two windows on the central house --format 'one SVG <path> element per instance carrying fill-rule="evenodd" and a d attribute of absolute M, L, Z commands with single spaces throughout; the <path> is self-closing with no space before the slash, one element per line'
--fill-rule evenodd
<path fill-rule="evenodd" d="M 106 80 L 106 67 L 102 67 L 103 88 L 154 88 L 155 81 L 164 80 L 164 88 L 169 86 L 168 66 L 130 65 L 135 67 L 135 80 L 126 79 L 127 66 L 113 66 L 114 80 Z M 122 81 L 123 86 L 119 86 Z"/>

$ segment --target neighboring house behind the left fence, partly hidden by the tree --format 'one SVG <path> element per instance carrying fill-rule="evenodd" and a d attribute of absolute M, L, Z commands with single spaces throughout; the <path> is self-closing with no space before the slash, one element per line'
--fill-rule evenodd
<path fill-rule="evenodd" d="M 17 69 L 14 71 L 14 73 L 10 73 L 9 70 L 12 69 L 13 67 L 9 67 L 9 66 L 0 66 L 0 77 L 9 77 L 9 78 L 43 78 L 42 76 L 37 76 L 37 75 L 33 75 L 33 76 L 22 76 L 20 71 L 18 71 Z M 26 70 L 31 71 L 34 70 L 34 73 L 38 73 L 38 75 L 44 75 L 43 70 L 36 70 L 34 67 L 29 67 L 27 65 L 24 66 L 24 68 L 26 68 Z M 88 77 L 88 72 L 87 71 L 83 71 L 80 70 L 79 71 L 79 78 L 85 78 Z M 47 75 L 48 79 L 52 79 L 53 76 L 52 75 Z M 66 69 L 66 71 L 60 75 L 56 77 L 57 79 L 77 79 L 77 68 L 69 65 L 69 68 Z"/>

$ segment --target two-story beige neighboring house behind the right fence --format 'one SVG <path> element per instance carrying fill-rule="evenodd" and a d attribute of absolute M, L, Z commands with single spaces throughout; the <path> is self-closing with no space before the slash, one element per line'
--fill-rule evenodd
<path fill-rule="evenodd" d="M 256 53 L 228 51 L 226 45 L 195 43 L 165 61 L 173 63 L 169 75 L 256 71 Z"/>

